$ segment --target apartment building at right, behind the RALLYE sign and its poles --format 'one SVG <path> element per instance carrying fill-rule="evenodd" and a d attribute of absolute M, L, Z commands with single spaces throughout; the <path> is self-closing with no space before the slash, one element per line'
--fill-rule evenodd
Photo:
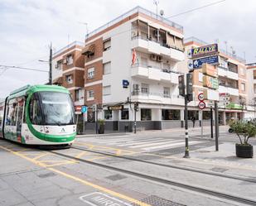
<path fill-rule="evenodd" d="M 184 41 L 185 53 L 187 51 L 200 47 L 209 45 L 205 41 L 201 41 L 196 37 L 187 38 Z M 220 48 L 219 48 L 220 50 Z M 185 61 L 181 62 L 179 69 L 187 73 L 187 56 Z M 248 104 L 248 81 L 246 74 L 246 65 L 245 60 L 240 58 L 237 55 L 230 54 L 225 50 L 220 50 L 219 52 L 219 65 L 218 65 L 218 74 L 219 74 L 219 94 L 220 94 L 220 103 L 219 103 L 219 122 L 221 124 L 226 124 L 227 121 L 231 118 L 243 118 L 246 116 Z M 197 106 L 198 93 L 203 93 L 203 74 L 201 69 L 195 69 L 193 72 L 193 96 L 194 102 L 191 102 L 189 105 Z M 193 111 L 194 110 L 194 111 Z M 191 115 L 198 118 L 197 108 L 191 108 Z M 210 104 L 206 101 L 206 108 L 203 111 L 203 119 L 210 119 Z"/>

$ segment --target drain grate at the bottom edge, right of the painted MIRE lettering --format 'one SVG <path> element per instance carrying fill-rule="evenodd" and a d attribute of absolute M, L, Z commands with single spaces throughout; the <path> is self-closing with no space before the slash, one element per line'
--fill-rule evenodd
<path fill-rule="evenodd" d="M 185 206 L 185 204 L 177 204 L 170 200 L 159 198 L 155 195 L 151 195 L 145 199 L 141 199 L 140 201 L 152 206 Z M 137 206 L 138 204 L 132 204 L 132 205 Z"/>

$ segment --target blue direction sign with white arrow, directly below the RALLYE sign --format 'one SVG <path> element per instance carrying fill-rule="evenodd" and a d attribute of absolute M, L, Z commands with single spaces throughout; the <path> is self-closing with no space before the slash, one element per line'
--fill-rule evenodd
<path fill-rule="evenodd" d="M 207 56 L 201 59 L 188 60 L 187 66 L 188 66 L 188 69 L 200 69 L 202 65 L 205 63 L 210 65 L 219 65 L 219 56 L 213 55 L 213 56 Z"/>

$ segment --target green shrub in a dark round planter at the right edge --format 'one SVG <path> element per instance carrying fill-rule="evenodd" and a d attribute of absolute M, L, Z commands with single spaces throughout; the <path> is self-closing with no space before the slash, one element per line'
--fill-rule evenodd
<path fill-rule="evenodd" d="M 249 144 L 249 138 L 256 136 L 256 122 L 231 121 L 229 127 L 239 137 L 240 143 L 235 145 L 236 156 L 252 158 L 254 146 Z"/>

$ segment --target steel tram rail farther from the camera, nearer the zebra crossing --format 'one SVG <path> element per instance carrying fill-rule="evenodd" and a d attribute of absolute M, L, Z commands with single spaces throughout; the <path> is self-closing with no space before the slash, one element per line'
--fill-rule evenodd
<path fill-rule="evenodd" d="M 147 164 L 150 164 L 150 165 L 158 165 L 158 166 L 162 166 L 162 167 L 167 167 L 167 168 L 171 168 L 171 169 L 186 170 L 186 171 L 196 172 L 196 173 L 200 173 L 200 174 L 204 174 L 204 175 L 213 175 L 213 176 L 224 177 L 224 178 L 228 178 L 228 179 L 232 179 L 232 180 L 241 180 L 241 181 L 256 183 L 255 179 L 246 178 L 246 177 L 239 177 L 237 175 L 221 174 L 219 172 L 211 172 L 211 171 L 207 171 L 207 170 L 200 170 L 200 169 L 195 169 L 195 168 L 191 168 L 191 167 L 187 167 L 187 166 L 170 165 L 170 164 L 167 165 L 167 164 L 157 163 L 157 162 L 150 161 L 150 160 L 141 160 L 141 159 L 134 158 L 134 157 L 131 157 L 131 156 L 116 156 L 116 155 L 114 155 L 112 153 L 109 153 L 109 152 L 92 151 L 92 150 L 85 149 L 84 147 L 80 147 L 80 146 L 71 146 L 71 148 L 73 148 L 75 150 L 80 150 L 80 151 L 89 151 L 89 152 L 99 154 L 99 155 L 111 156 L 111 157 L 115 157 L 115 158 L 123 159 L 123 160 L 133 160 L 133 161 L 138 161 L 138 162 L 142 162 L 142 163 L 147 163 Z M 150 156 L 150 154 L 148 154 L 148 156 Z"/>

